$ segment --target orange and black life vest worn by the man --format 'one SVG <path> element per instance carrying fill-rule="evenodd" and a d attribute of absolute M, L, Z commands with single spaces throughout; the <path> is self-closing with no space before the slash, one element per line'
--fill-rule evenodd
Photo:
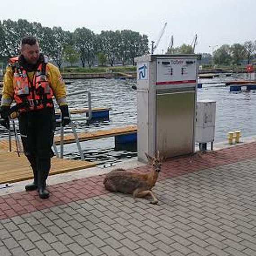
<path fill-rule="evenodd" d="M 9 59 L 9 65 L 13 68 L 14 100 L 17 104 L 26 105 L 20 112 L 53 107 L 53 89 L 47 78 L 46 64 L 47 61 L 40 62 L 30 81 L 26 70 L 19 64 L 18 57 Z"/>

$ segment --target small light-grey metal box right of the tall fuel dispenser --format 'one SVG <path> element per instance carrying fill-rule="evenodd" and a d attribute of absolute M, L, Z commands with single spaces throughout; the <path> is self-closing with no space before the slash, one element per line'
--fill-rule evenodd
<path fill-rule="evenodd" d="M 199 101 L 195 114 L 195 141 L 207 143 L 214 141 L 215 136 L 215 101 Z"/>

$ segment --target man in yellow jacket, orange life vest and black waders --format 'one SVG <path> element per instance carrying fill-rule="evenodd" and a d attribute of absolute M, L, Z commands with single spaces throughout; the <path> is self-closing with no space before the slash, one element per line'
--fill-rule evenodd
<path fill-rule="evenodd" d="M 38 190 L 40 198 L 49 197 L 46 179 L 53 157 L 55 130 L 53 96 L 62 112 L 62 125 L 70 123 L 66 102 L 66 86 L 60 71 L 40 53 L 35 37 L 22 39 L 21 55 L 11 58 L 4 75 L 0 115 L 9 127 L 9 109 L 13 100 L 18 106 L 19 129 L 24 153 L 31 164 L 34 182 L 26 191 Z"/>

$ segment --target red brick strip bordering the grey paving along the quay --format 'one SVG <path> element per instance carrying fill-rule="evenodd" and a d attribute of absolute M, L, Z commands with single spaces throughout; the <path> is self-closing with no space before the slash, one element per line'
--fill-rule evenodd
<path fill-rule="evenodd" d="M 212 151 L 203 155 L 195 154 L 194 156 L 169 159 L 163 163 L 159 180 L 254 157 L 256 157 L 256 142 Z M 145 165 L 135 168 L 135 171 L 147 171 L 149 168 Z M 51 185 L 48 187 L 51 196 L 47 200 L 40 199 L 36 191 L 0 196 L 0 220 L 106 194 L 108 191 L 102 185 L 103 179 L 104 175 L 100 175 Z"/>

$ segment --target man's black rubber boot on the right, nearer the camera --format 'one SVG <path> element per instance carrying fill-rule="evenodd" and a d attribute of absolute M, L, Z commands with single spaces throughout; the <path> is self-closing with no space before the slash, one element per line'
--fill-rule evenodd
<path fill-rule="evenodd" d="M 49 198 L 49 191 L 46 189 L 46 179 L 49 174 L 50 158 L 39 158 L 37 163 L 38 170 L 38 194 L 41 199 Z"/>

